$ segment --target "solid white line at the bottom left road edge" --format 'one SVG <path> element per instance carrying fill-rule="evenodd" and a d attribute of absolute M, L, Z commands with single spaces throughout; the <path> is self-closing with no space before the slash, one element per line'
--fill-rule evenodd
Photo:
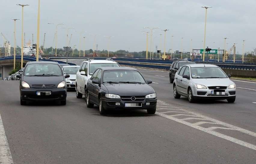
<path fill-rule="evenodd" d="M 0 114 L 0 163 L 13 164 L 11 151 L 5 135 L 5 129 Z"/>

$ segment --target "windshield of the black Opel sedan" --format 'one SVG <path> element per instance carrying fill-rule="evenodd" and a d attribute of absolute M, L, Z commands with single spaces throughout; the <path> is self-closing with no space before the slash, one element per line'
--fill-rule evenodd
<path fill-rule="evenodd" d="M 146 84 L 146 81 L 136 70 L 108 70 L 103 72 L 103 83 L 137 83 Z"/>

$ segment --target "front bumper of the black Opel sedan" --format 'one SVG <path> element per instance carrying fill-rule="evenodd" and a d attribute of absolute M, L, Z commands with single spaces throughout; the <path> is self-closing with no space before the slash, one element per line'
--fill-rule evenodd
<path fill-rule="evenodd" d="M 120 103 L 120 105 L 116 105 L 116 103 Z M 136 104 L 137 106 L 125 106 L 125 104 Z M 157 98 L 147 99 L 143 101 L 123 101 L 122 99 L 102 99 L 102 105 L 105 110 L 126 110 L 126 109 L 154 110 L 157 108 Z"/>

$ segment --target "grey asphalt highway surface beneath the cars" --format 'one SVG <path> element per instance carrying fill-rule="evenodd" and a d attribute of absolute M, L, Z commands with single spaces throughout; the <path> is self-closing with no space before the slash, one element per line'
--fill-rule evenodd
<path fill-rule="evenodd" d="M 65 106 L 21 106 L 19 81 L 1 80 L 0 163 L 255 163 L 256 83 L 234 80 L 234 103 L 189 103 L 174 99 L 169 72 L 138 70 L 153 81 L 154 115 L 100 115 L 75 91 L 68 91 Z"/>

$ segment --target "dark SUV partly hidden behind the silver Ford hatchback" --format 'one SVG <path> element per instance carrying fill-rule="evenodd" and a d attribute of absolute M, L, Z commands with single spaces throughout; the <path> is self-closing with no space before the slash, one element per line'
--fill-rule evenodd
<path fill-rule="evenodd" d="M 178 71 L 179 68 L 181 68 L 183 65 L 187 64 L 196 64 L 195 62 L 187 61 L 187 60 L 175 60 L 172 62 L 172 65 L 169 70 L 169 77 L 170 77 L 170 83 L 173 83 L 175 73 Z"/>

